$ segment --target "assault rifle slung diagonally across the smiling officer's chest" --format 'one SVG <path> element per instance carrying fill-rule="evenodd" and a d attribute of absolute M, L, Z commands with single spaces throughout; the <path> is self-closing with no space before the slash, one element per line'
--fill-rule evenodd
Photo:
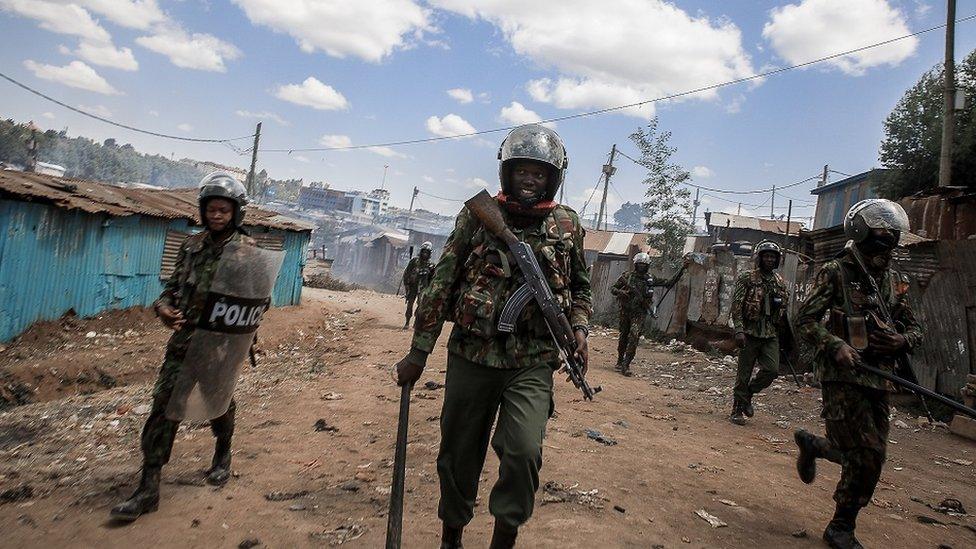
<path fill-rule="evenodd" d="M 563 313 L 552 295 L 552 289 L 546 281 L 539 266 L 539 261 L 535 257 L 532 247 L 522 242 L 512 233 L 505 224 L 502 212 L 498 208 L 498 202 L 487 191 L 481 191 L 464 203 L 468 210 L 477 217 L 491 234 L 500 238 L 508 249 L 512 252 L 522 277 L 525 278 L 523 284 L 512 297 L 509 298 L 505 307 L 502 309 L 498 320 L 498 331 L 511 333 L 515 330 L 515 321 L 521 314 L 522 309 L 528 304 L 529 300 L 534 299 L 542 311 L 546 326 L 552 335 L 563 366 L 569 374 L 570 380 L 579 390 L 583 391 L 583 398 L 593 400 L 593 395 L 599 393 L 602 387 L 590 387 L 583 374 L 583 365 L 576 358 L 576 336 L 573 327 L 569 325 L 569 319 Z"/>

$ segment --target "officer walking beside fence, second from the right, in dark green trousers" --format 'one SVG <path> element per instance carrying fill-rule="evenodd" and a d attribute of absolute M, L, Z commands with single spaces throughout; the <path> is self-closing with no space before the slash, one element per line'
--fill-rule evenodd
<path fill-rule="evenodd" d="M 756 267 L 739 275 L 732 294 L 732 328 L 739 347 L 739 367 L 729 421 L 745 425 L 755 413 L 752 397 L 779 374 L 779 328 L 786 315 L 786 282 L 776 272 L 783 252 L 764 240 L 753 251 Z M 752 376 L 756 362 L 759 371 Z"/>

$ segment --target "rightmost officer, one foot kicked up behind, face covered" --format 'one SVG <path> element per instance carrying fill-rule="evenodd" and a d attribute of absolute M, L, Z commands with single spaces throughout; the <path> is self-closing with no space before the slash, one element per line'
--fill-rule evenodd
<path fill-rule="evenodd" d="M 826 438 L 804 430 L 795 433 L 800 450 L 797 471 L 809 484 L 816 476 L 817 458 L 841 465 L 834 491 L 836 511 L 823 534 L 836 549 L 861 547 L 854 536 L 857 515 L 874 494 L 888 440 L 888 384 L 859 370 L 857 363 L 893 372 L 897 357 L 922 342 L 921 327 L 905 300 L 907 284 L 889 267 L 892 251 L 908 229 L 908 216 L 895 202 L 869 199 L 855 204 L 844 220 L 844 232 L 851 239 L 848 246 L 824 264 L 797 313 L 798 337 L 816 349 L 827 429 Z M 879 316 L 879 300 L 888 305 L 894 326 Z M 824 325 L 827 313 L 829 321 Z"/>

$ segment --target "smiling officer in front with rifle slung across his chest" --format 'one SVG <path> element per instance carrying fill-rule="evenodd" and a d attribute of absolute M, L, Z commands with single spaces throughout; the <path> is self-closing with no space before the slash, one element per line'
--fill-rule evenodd
<path fill-rule="evenodd" d="M 500 209 L 512 232 L 535 251 L 585 367 L 591 296 L 583 228 L 576 212 L 554 200 L 567 166 L 565 147 L 549 128 L 526 125 L 505 138 L 498 158 Z M 444 321 L 454 321 L 437 457 L 443 548 L 461 547 L 489 440 L 500 462 L 488 503 L 495 517 L 490 547 L 513 547 L 532 515 L 560 358 L 534 302 L 513 333 L 499 333 L 498 313 L 521 283 L 507 246 L 462 209 L 417 310 L 410 352 L 396 365 L 397 382 L 414 383 Z"/>

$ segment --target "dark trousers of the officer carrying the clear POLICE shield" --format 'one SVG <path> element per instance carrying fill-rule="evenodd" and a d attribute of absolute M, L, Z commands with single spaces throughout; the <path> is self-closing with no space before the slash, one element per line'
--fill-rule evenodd
<path fill-rule="evenodd" d="M 176 439 L 176 431 L 180 427 L 179 421 L 172 421 L 166 418 L 166 407 L 169 399 L 173 395 L 173 387 L 179 378 L 180 370 L 183 368 L 183 357 L 186 350 L 182 348 L 168 347 L 166 358 L 163 360 L 163 367 L 159 370 L 159 377 L 153 386 L 153 404 L 146 425 L 142 428 L 142 459 L 147 467 L 162 467 L 169 462 L 170 453 L 173 450 L 173 441 Z M 210 430 L 218 441 L 223 441 L 230 445 L 230 440 L 234 436 L 234 413 L 237 404 L 233 399 L 230 407 L 224 415 L 210 420 Z"/>

